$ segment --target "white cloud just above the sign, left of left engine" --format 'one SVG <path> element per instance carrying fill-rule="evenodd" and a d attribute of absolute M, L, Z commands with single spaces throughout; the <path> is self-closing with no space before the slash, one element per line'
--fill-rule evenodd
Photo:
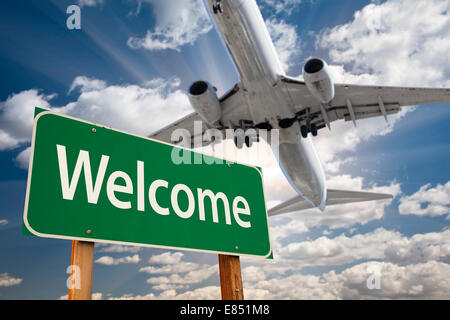
<path fill-rule="evenodd" d="M 80 77 L 74 80 L 79 81 Z M 85 81 L 85 79 L 83 79 Z M 187 96 L 179 90 L 178 79 L 138 85 L 95 87 L 92 79 L 81 87 L 77 101 L 61 111 L 74 117 L 113 128 L 148 135 L 192 110 Z"/>

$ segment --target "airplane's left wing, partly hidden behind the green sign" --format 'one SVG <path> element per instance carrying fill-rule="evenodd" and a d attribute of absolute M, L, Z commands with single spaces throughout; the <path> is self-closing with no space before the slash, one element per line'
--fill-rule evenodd
<path fill-rule="evenodd" d="M 220 119 L 221 123 L 225 127 L 233 127 L 238 126 L 239 121 L 243 119 L 251 119 L 250 114 L 248 112 L 248 106 L 246 103 L 246 99 L 243 96 L 242 91 L 240 90 L 239 84 L 236 84 L 230 91 L 225 93 L 220 99 L 220 106 L 222 108 L 222 117 Z M 202 126 L 202 130 L 194 130 L 194 123 L 198 121 Z M 153 132 L 148 137 L 156 140 L 178 144 L 181 142 L 181 138 L 179 141 L 172 141 L 171 135 L 172 132 L 176 129 L 185 129 L 189 132 L 191 137 L 191 148 L 194 147 L 194 141 L 197 136 L 203 136 L 203 133 L 212 128 L 209 126 L 202 118 L 198 115 L 198 113 L 193 112 L 171 124 L 168 126 Z M 216 129 L 221 129 L 217 127 Z M 203 145 L 208 145 L 210 141 L 203 141 Z"/>

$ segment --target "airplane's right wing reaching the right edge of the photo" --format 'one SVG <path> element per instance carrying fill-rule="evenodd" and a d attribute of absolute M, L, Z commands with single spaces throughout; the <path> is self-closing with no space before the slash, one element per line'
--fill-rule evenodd
<path fill-rule="evenodd" d="M 356 120 L 365 118 L 384 116 L 387 120 L 387 115 L 399 112 L 403 106 L 450 101 L 450 89 L 335 84 L 335 97 L 322 110 L 305 82 L 284 76 L 280 85 L 300 115 L 310 108 L 311 123 L 318 129 L 339 119 L 355 125 Z"/>

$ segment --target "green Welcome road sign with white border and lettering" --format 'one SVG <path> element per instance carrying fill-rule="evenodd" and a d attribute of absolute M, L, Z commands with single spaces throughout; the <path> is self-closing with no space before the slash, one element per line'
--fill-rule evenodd
<path fill-rule="evenodd" d="M 41 237 L 271 252 L 256 167 L 49 111 L 35 117 L 24 224 Z"/>

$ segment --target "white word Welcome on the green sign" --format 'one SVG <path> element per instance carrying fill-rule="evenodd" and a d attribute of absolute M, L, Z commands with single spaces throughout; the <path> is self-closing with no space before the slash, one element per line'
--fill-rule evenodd
<path fill-rule="evenodd" d="M 100 164 L 97 170 L 97 176 L 93 181 L 91 162 L 89 152 L 80 150 L 78 158 L 75 164 L 75 168 L 72 173 L 72 177 L 69 179 L 68 164 L 66 147 L 63 145 L 56 145 L 59 174 L 61 181 L 62 197 L 65 200 L 73 200 L 75 191 L 78 186 L 81 171 L 84 172 L 84 180 L 86 184 L 86 196 L 88 203 L 97 204 L 101 190 L 103 189 L 105 175 L 109 163 L 110 157 L 102 155 Z M 106 194 L 110 203 L 118 209 L 132 209 L 132 202 L 119 200 L 117 194 L 134 195 L 136 191 L 137 196 L 137 211 L 145 211 L 146 196 L 145 196 L 145 176 L 144 176 L 144 162 L 137 161 L 137 176 L 134 183 L 126 172 L 114 171 L 106 179 Z M 123 180 L 125 184 L 118 184 L 118 180 Z M 158 202 L 157 195 L 163 192 L 170 192 L 171 208 L 162 207 Z M 187 208 L 181 208 L 178 199 L 180 194 L 184 194 L 188 199 Z M 197 203 L 194 197 L 194 192 L 187 185 L 179 183 L 171 187 L 169 191 L 169 182 L 163 179 L 157 179 L 150 184 L 147 191 L 148 201 L 154 212 L 159 215 L 167 216 L 171 212 L 174 212 L 178 217 L 182 219 L 189 219 L 193 216 L 198 206 L 198 218 L 201 221 L 206 221 L 205 212 L 205 198 L 209 198 L 211 201 L 211 215 L 214 223 L 219 223 L 218 214 L 218 201 L 221 200 L 224 208 L 225 223 L 227 225 L 232 224 L 232 217 L 234 221 L 242 228 L 250 228 L 251 222 L 242 220 L 241 216 L 248 216 L 249 219 L 251 212 L 247 200 L 244 197 L 236 196 L 232 201 L 232 215 L 230 212 L 230 203 L 228 197 L 223 192 L 214 193 L 211 190 L 203 190 L 197 188 L 196 190 Z M 120 197 L 123 199 L 123 196 Z"/>

